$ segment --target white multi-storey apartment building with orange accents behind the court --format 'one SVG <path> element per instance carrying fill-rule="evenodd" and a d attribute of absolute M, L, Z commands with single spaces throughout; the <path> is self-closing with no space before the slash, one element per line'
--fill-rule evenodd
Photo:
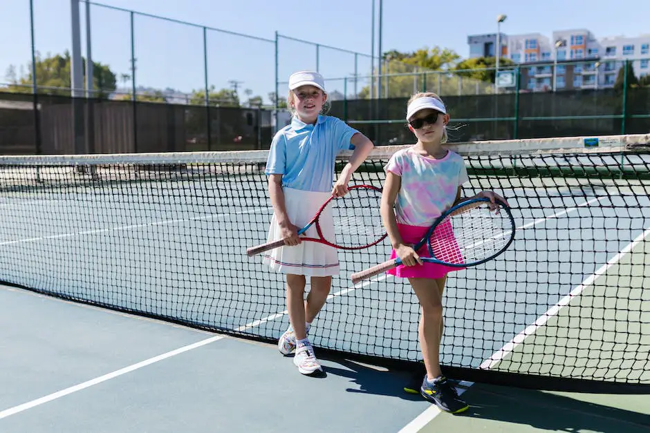
<path fill-rule="evenodd" d="M 625 59 L 637 77 L 650 74 L 650 35 L 597 38 L 588 29 L 501 34 L 502 57 L 522 66 L 521 88 L 571 90 L 611 88 Z M 496 34 L 467 38 L 470 57 L 494 55 Z M 490 54 L 491 53 L 491 54 Z"/>

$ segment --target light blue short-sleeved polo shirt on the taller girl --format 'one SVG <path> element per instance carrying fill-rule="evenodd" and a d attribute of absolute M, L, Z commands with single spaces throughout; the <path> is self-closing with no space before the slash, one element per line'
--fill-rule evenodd
<path fill-rule="evenodd" d="M 337 117 L 319 115 L 312 125 L 294 116 L 273 137 L 265 173 L 282 175 L 287 188 L 330 192 L 336 155 L 354 148 L 350 140 L 358 132 Z"/>

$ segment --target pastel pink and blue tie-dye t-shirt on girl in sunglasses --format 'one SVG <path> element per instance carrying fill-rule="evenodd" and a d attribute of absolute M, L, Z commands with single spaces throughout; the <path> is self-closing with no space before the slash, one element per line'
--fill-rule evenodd
<path fill-rule="evenodd" d="M 470 180 L 463 157 L 452 151 L 435 160 L 405 148 L 394 153 L 384 169 L 402 178 L 395 215 L 398 223 L 411 226 L 433 224 L 456 200 L 458 186 Z"/>

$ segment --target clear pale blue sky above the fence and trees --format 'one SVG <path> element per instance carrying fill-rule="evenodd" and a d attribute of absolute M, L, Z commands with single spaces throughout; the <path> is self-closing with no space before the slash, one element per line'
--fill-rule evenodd
<path fill-rule="evenodd" d="M 379 28 L 375 1 L 375 30 Z M 71 50 L 71 0 L 33 0 L 35 48 L 42 56 Z M 189 21 L 243 33 L 257 39 L 207 31 L 207 81 L 217 89 L 237 81 L 240 95 L 245 89 L 268 101 L 275 89 L 275 32 L 315 43 L 360 52 L 357 72 L 371 68 L 373 0 L 328 0 L 280 2 L 275 0 L 101 0 L 117 8 Z M 508 15 L 501 31 L 517 35 L 539 32 L 551 37 L 554 30 L 587 28 L 596 37 L 650 33 L 650 1 L 546 0 L 533 4 L 521 0 L 431 1 L 383 0 L 382 50 L 413 51 L 440 46 L 469 55 L 467 36 L 496 32 L 496 16 Z M 86 52 L 85 3 L 81 3 L 82 53 Z M 324 5 L 327 6 L 324 6 Z M 136 85 L 174 88 L 183 93 L 203 89 L 205 66 L 203 30 L 135 16 Z M 375 34 L 375 51 L 378 50 Z M 10 65 L 28 68 L 30 52 L 29 0 L 0 2 L 0 82 L 6 82 Z M 130 73 L 131 32 L 128 12 L 91 7 L 93 60 L 107 64 L 118 75 Z M 280 37 L 278 46 L 280 81 L 295 70 L 316 68 L 316 48 Z M 342 77 L 355 73 L 355 56 L 327 48 L 319 49 L 319 71 L 328 90 L 344 90 Z M 360 90 L 367 84 L 360 79 Z M 130 87 L 130 82 L 127 84 Z M 353 93 L 354 81 L 348 83 Z M 281 95 L 286 84 L 280 85 Z"/>

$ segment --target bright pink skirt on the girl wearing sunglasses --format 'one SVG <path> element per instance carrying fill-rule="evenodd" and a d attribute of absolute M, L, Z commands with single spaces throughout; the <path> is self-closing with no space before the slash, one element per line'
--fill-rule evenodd
<path fill-rule="evenodd" d="M 404 240 L 405 243 L 411 245 L 415 245 L 420 242 L 422 237 L 427 233 L 427 230 L 429 229 L 429 227 L 409 226 L 407 224 L 400 223 L 397 224 L 397 228 L 400 231 L 402 240 Z M 416 252 L 420 257 L 431 257 L 426 244 Z M 458 251 L 458 256 L 460 257 L 460 255 L 461 252 Z M 391 250 L 391 259 L 393 258 L 397 258 L 397 254 L 395 253 L 394 249 Z M 386 273 L 400 278 L 443 278 L 447 275 L 447 273 L 452 271 L 460 271 L 461 269 L 465 268 L 425 262 L 423 264 L 416 264 L 414 266 L 404 266 L 403 264 L 400 264 L 396 268 L 389 269 L 386 271 Z"/>

